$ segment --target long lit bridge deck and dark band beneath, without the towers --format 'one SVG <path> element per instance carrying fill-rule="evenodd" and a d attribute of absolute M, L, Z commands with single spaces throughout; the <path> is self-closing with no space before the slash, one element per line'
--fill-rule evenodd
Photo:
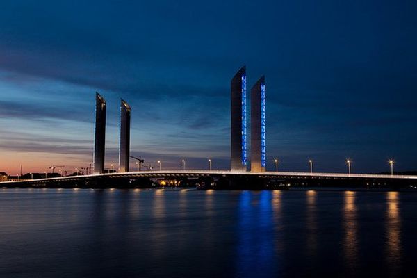
<path fill-rule="evenodd" d="M 197 186 L 218 189 L 288 187 L 417 188 L 416 175 L 311 172 L 231 172 L 225 170 L 163 170 L 115 172 L 0 183 L 4 188 L 155 188 Z"/>

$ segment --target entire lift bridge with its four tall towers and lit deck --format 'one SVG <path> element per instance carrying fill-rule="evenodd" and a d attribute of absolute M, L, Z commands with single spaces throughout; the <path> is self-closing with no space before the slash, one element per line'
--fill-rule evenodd
<path fill-rule="evenodd" d="M 106 142 L 106 100 L 96 92 L 94 172 L 70 177 L 51 177 L 0 183 L 4 187 L 82 187 L 82 188 L 137 188 L 154 187 L 161 180 L 175 180 L 181 186 L 203 188 L 288 188 L 288 186 L 354 187 L 354 188 L 417 188 L 417 176 L 384 174 L 338 174 L 316 172 L 268 172 L 266 170 L 265 137 L 265 77 L 262 76 L 250 90 L 250 117 L 247 117 L 246 67 L 231 79 L 231 166 L 222 170 L 152 170 L 142 165 L 144 160 L 130 154 L 131 106 L 120 101 L 120 147 L 118 172 L 104 172 Z M 250 123 L 247 119 L 250 118 Z M 250 126 L 250 142 L 247 142 L 247 126 Z M 250 159 L 248 158 L 250 145 Z M 129 169 L 136 160 L 136 172 Z M 247 165 L 250 161 L 250 165 Z M 277 161 L 276 161 L 277 162 Z M 349 162 L 350 163 L 350 162 Z M 56 167 L 51 166 L 55 170 Z M 142 167 L 147 170 L 141 171 Z M 349 165 L 350 167 L 350 165 Z M 249 172 L 247 169 L 250 169 Z"/>

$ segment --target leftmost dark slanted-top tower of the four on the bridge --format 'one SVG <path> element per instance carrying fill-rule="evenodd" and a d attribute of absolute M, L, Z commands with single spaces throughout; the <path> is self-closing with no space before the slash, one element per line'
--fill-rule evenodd
<path fill-rule="evenodd" d="M 106 101 L 96 92 L 94 140 L 94 173 L 104 173 L 104 148 L 106 144 Z"/>

